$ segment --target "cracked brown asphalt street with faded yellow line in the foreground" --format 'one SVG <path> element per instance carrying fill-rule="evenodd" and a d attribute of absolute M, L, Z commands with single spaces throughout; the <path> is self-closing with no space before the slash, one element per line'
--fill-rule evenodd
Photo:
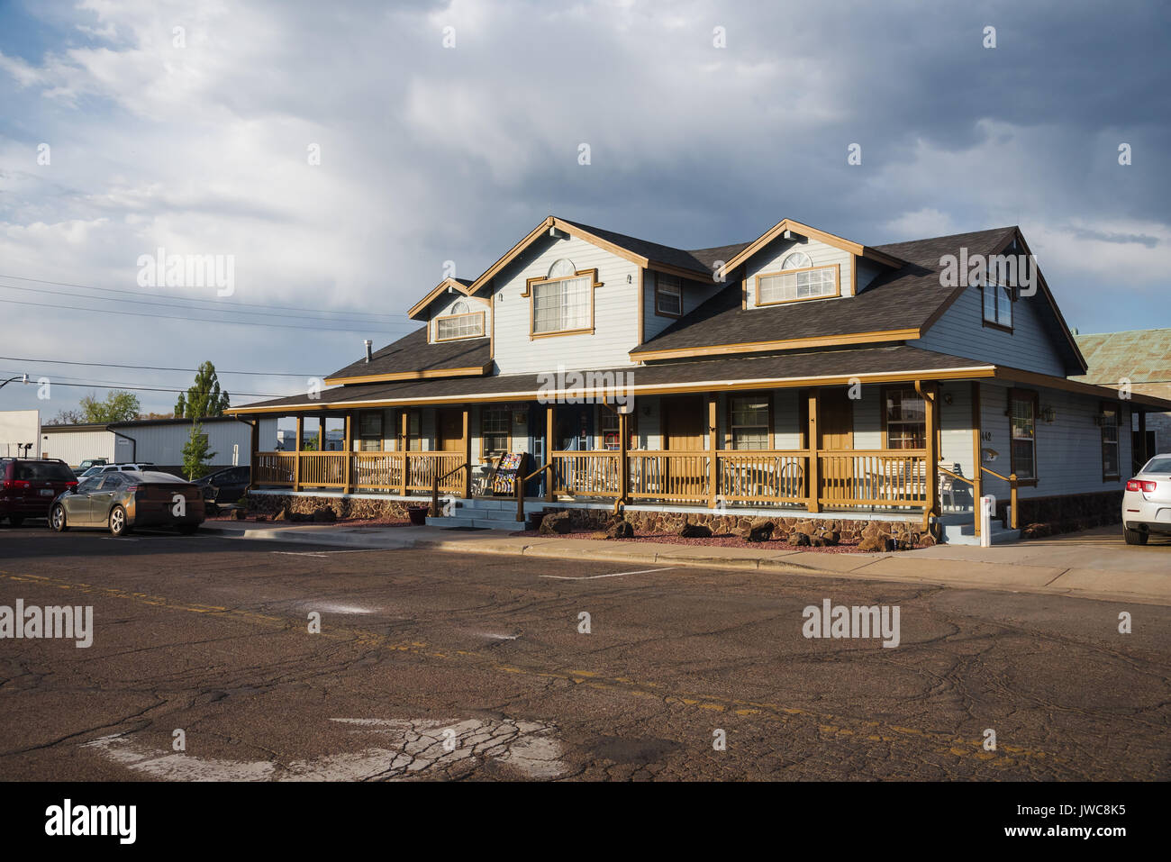
<path fill-rule="evenodd" d="M 0 779 L 1171 775 L 1169 608 L 623 572 L 0 527 L 0 606 L 95 625 L 0 639 Z M 898 606 L 900 645 L 804 638 L 824 598 Z"/>

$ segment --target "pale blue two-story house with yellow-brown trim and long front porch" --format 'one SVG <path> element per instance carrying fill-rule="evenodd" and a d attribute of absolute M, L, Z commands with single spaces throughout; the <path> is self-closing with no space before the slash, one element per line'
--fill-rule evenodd
<path fill-rule="evenodd" d="M 452 524 L 515 497 L 636 524 L 913 519 L 951 541 L 981 495 L 1012 526 L 1117 520 L 1119 429 L 1171 402 L 1071 379 L 1086 361 L 1028 260 L 1016 227 L 865 246 L 786 219 L 685 251 L 550 216 L 330 388 L 231 412 L 255 420 L 253 494 L 434 492 L 463 498 Z M 272 451 L 274 418 L 341 450 Z"/>

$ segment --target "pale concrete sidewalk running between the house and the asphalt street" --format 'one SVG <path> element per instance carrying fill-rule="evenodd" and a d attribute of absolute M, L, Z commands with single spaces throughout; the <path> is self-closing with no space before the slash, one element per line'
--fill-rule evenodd
<path fill-rule="evenodd" d="M 1049 593 L 1171 607 L 1171 545 L 1131 547 L 1117 527 L 991 548 L 940 545 L 893 554 L 827 554 L 773 545 L 724 548 L 439 527 L 349 527 L 205 521 L 221 535 L 351 549 L 405 549 L 589 560 L 628 566 L 705 567 L 813 577 L 933 583 L 952 588 Z"/>

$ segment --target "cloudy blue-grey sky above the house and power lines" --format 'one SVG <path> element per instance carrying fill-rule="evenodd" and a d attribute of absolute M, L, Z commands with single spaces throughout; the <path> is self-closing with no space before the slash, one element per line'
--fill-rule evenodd
<path fill-rule="evenodd" d="M 0 410 L 207 360 L 233 404 L 301 392 L 550 213 L 1020 225 L 1071 327 L 1171 327 L 1169 45 L 1157 2 L 0 0 L 0 381 L 50 381 Z M 152 282 L 159 248 L 231 292 Z"/>

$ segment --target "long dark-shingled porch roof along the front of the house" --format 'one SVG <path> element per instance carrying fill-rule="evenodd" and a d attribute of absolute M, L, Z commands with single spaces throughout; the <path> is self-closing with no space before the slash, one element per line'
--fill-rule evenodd
<path fill-rule="evenodd" d="M 614 392 L 615 383 L 632 395 L 678 391 L 720 391 L 730 389 L 792 388 L 801 385 L 844 385 L 857 377 L 863 383 L 895 379 L 946 379 L 991 377 L 993 365 L 959 356 L 923 350 L 905 344 L 891 347 L 817 350 L 771 356 L 730 356 L 694 362 L 655 365 L 626 365 L 588 372 L 604 379 L 604 388 L 587 389 L 584 382 L 566 381 L 542 396 L 564 391 L 569 395 Z M 567 372 L 568 376 L 569 372 Z M 598 377 L 601 376 L 601 377 Z M 498 375 L 494 377 L 438 378 L 391 383 L 358 383 L 327 389 L 320 399 L 303 395 L 235 408 L 233 413 L 275 413 L 295 410 L 323 410 L 347 406 L 393 406 L 400 404 L 444 404 L 470 401 L 533 401 L 549 375 Z M 629 383 L 629 386 L 625 384 Z"/>

